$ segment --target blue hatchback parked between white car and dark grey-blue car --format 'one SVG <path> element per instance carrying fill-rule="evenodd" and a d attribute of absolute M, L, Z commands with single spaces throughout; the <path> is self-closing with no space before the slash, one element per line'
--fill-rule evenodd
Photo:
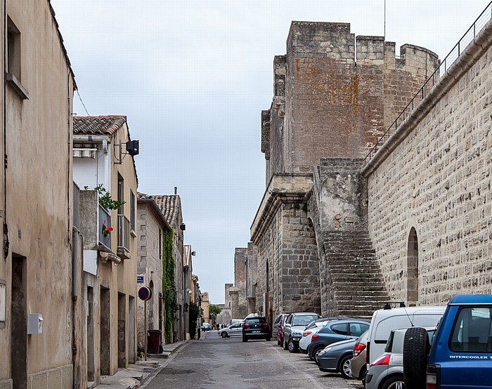
<path fill-rule="evenodd" d="M 317 362 L 318 354 L 327 345 L 346 339 L 356 339 L 369 329 L 369 323 L 363 320 L 342 319 L 328 322 L 325 327 L 311 338 L 308 355 Z"/>

